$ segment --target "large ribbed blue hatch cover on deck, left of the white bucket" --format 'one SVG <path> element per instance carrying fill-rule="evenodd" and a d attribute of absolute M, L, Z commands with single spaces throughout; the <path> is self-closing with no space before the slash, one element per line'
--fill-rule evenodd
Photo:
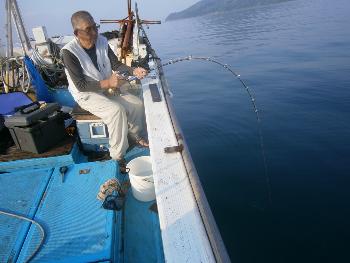
<path fill-rule="evenodd" d="M 90 171 L 81 174 L 82 169 Z M 69 166 L 62 183 L 59 169 L 55 169 L 45 200 L 35 216 L 44 225 L 47 238 L 32 262 L 111 259 L 113 211 L 101 208 L 96 195 L 100 185 L 116 173 L 113 161 L 76 164 Z M 32 253 L 39 240 L 40 233 L 31 226 L 19 256 L 20 262 Z"/>

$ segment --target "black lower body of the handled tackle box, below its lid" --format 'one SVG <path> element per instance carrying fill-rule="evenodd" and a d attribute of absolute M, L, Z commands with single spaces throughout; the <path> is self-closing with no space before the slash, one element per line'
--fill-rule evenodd
<path fill-rule="evenodd" d="M 22 151 L 42 153 L 66 136 L 64 114 L 57 112 L 47 119 L 25 127 L 9 127 L 16 147 Z"/>

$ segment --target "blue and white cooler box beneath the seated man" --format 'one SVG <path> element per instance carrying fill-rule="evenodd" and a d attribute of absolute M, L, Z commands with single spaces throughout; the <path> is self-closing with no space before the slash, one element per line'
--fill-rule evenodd
<path fill-rule="evenodd" d="M 88 111 L 76 106 L 72 112 L 84 151 L 104 152 L 109 149 L 107 125 Z"/>

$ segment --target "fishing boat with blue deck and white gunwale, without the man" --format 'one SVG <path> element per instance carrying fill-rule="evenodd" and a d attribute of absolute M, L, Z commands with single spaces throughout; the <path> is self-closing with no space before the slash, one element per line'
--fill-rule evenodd
<path fill-rule="evenodd" d="M 28 91 L 24 83 L 29 72 L 36 100 L 41 105 L 42 101 L 59 103 L 66 117 L 73 116 L 65 125 L 76 122 L 78 132 L 40 153 L 23 151 L 21 138 L 15 146 L 1 144 L 0 262 L 229 262 L 176 120 L 161 60 L 143 28 L 158 22 L 140 19 L 137 5 L 133 12 L 130 0 L 127 18 L 101 20 L 120 25 L 118 32 L 105 34 L 118 58 L 149 69 L 140 82 L 130 83 L 143 98 L 149 148 L 128 150 L 125 158 L 130 172 L 124 176 L 116 161 L 96 158 L 108 151 L 104 123 L 90 113 L 75 114 L 67 85 L 59 81 L 63 70 L 57 50 L 71 37 L 50 38 L 44 27 L 38 27 L 33 31 L 36 46 L 32 48 L 16 1 L 6 2 L 27 56 L 23 60 L 7 57 L 3 67 L 9 61 L 24 61 L 25 67 L 18 70 L 22 73 L 17 73 L 23 78 L 18 89 Z M 50 72 L 47 78 L 45 73 Z M 56 85 L 50 86 L 49 81 Z M 18 93 L 23 92 L 3 92 L 0 98 L 12 94 L 16 101 Z M 6 124 L 15 113 L 2 114 Z M 40 137 L 47 133 L 54 137 L 54 130 L 45 130 L 43 121 L 40 125 Z M 13 139 L 15 131 L 11 133 Z M 93 151 L 89 155 L 86 150 Z M 111 191 L 117 206 L 109 207 L 112 210 L 103 205 L 107 198 L 96 198 L 108 182 L 117 185 Z"/>

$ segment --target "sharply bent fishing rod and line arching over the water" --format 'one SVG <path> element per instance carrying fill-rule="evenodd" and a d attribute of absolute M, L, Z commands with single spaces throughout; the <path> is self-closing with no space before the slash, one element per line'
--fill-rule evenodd
<path fill-rule="evenodd" d="M 159 58 L 156 58 L 159 59 Z M 254 112 L 255 112 L 255 116 L 256 116 L 256 120 L 257 120 L 257 124 L 258 124 L 258 134 L 259 134 L 259 141 L 260 141 L 260 149 L 261 149 L 261 156 L 262 156 L 262 160 L 263 160 L 263 165 L 264 165 L 264 174 L 265 174 L 265 180 L 266 180 L 266 185 L 267 185 L 267 192 L 268 192 L 268 200 L 269 200 L 269 204 L 272 204 L 272 193 L 271 193 L 271 180 L 270 180 L 270 176 L 268 175 L 267 172 L 267 161 L 266 161 L 266 153 L 265 153 L 265 147 L 264 147 L 264 138 L 262 135 L 262 129 L 261 129 L 261 118 L 259 116 L 259 111 L 258 108 L 256 106 L 256 102 L 255 102 L 255 98 L 252 94 L 252 92 L 250 91 L 249 87 L 247 86 L 247 84 L 244 82 L 244 80 L 241 78 L 240 74 L 237 74 L 228 64 L 223 64 L 213 58 L 210 57 L 196 57 L 196 56 L 187 56 L 187 57 L 182 57 L 182 58 L 176 58 L 176 59 L 171 59 L 166 63 L 163 63 L 161 66 L 165 67 L 168 65 L 172 65 L 175 63 L 179 63 L 179 62 L 183 62 L 183 61 L 193 61 L 193 60 L 201 60 L 201 61 L 208 61 L 214 64 L 217 64 L 223 68 L 225 68 L 226 70 L 228 70 L 236 79 L 239 80 L 239 82 L 242 84 L 242 86 L 244 87 L 245 91 L 247 92 L 250 101 L 252 103 Z M 158 67 L 159 68 L 159 67 Z"/>

